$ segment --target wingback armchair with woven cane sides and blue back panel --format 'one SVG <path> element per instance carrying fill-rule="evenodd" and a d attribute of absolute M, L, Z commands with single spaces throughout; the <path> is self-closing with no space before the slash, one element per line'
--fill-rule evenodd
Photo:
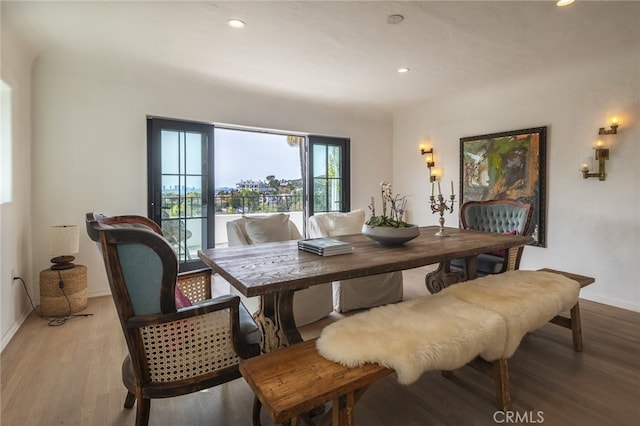
<path fill-rule="evenodd" d="M 260 333 L 238 297 L 202 299 L 211 294 L 211 271 L 208 290 L 191 292 L 192 283 L 182 287 L 176 254 L 153 222 L 89 213 L 86 226 L 100 245 L 127 343 L 124 407 L 137 401 L 137 426 L 148 424 L 153 398 L 184 395 L 241 376 L 240 359 L 259 354 Z M 176 287 L 190 299 L 179 300 Z"/>

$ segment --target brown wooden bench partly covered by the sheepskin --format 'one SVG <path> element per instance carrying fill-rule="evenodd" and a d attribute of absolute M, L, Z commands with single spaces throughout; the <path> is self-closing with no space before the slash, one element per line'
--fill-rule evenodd
<path fill-rule="evenodd" d="M 552 269 L 541 271 L 564 275 L 577 281 L 581 288 L 594 282 L 582 275 Z M 578 303 L 571 309 L 571 318 L 558 315 L 551 322 L 570 328 L 574 350 L 582 351 Z M 478 357 L 468 365 L 494 379 L 498 408 L 508 410 L 511 397 L 507 359 L 488 362 Z M 355 424 L 355 403 L 372 383 L 393 370 L 376 363 L 350 368 L 330 361 L 318 353 L 314 339 L 244 360 L 240 372 L 274 422 L 296 425 L 298 416 L 331 402 L 332 424 L 339 426 Z M 443 374 L 449 376 L 452 372 Z M 259 410 L 257 416 L 254 410 L 254 424 L 260 424 Z"/>

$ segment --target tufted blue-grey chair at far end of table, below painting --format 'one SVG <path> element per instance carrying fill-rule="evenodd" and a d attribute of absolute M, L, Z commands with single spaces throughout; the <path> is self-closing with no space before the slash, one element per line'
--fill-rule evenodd
<path fill-rule="evenodd" d="M 485 232 L 527 235 L 531 224 L 531 204 L 514 200 L 467 201 L 460 208 L 460 222 L 464 229 Z M 524 247 L 515 256 L 508 252 L 485 253 L 478 256 L 478 275 L 499 274 L 518 269 Z M 464 271 L 464 261 L 451 261 L 453 271 Z"/>

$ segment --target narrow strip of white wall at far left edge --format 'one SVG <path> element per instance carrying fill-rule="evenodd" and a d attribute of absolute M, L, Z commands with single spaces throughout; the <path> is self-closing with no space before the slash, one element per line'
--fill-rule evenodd
<path fill-rule="evenodd" d="M 31 268 L 31 63 L 33 52 L 2 21 L 2 80 L 12 98 L 12 200 L 0 204 L 0 347 L 4 348 L 31 311 L 20 281 L 33 294 Z M 4 125 L 4 123 L 2 123 Z"/>

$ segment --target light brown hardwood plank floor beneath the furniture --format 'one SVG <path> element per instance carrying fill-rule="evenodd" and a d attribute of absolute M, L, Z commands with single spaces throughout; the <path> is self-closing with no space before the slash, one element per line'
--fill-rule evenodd
<path fill-rule="evenodd" d="M 405 272 L 405 298 L 425 295 L 427 268 Z M 224 291 L 216 282 L 215 291 Z M 224 284 L 222 284 L 222 287 Z M 452 378 L 424 374 L 403 386 L 394 375 L 356 405 L 362 426 L 635 425 L 640 418 L 640 313 L 580 302 L 584 352 L 571 332 L 547 324 L 525 337 L 509 360 L 512 413 L 496 412 L 493 383 L 465 367 Z M 3 426 L 133 425 L 122 408 L 126 346 L 110 297 L 61 327 L 31 315 L 2 353 Z M 305 338 L 340 318 L 305 327 Z M 150 425 L 251 425 L 253 394 L 243 379 L 178 398 L 153 400 Z M 507 417 L 511 416 L 511 417 Z M 263 424 L 272 423 L 263 414 Z"/>

